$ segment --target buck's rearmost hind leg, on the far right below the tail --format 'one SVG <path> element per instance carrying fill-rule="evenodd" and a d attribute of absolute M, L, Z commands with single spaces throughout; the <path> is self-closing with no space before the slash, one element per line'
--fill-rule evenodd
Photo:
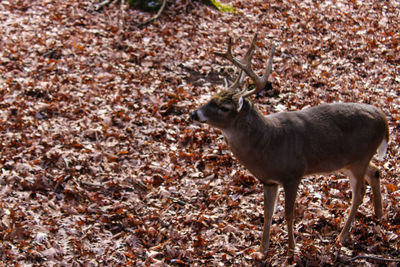
<path fill-rule="evenodd" d="M 374 203 L 375 216 L 382 217 L 382 196 L 380 188 L 380 172 L 379 169 L 373 164 L 369 163 L 366 172 L 366 180 L 372 189 L 372 202 Z"/>

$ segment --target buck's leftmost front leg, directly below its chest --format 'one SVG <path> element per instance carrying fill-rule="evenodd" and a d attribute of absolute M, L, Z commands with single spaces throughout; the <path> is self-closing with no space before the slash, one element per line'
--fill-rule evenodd
<path fill-rule="evenodd" d="M 259 249 L 261 252 L 267 252 L 269 249 L 269 230 L 271 228 L 278 188 L 277 184 L 264 184 L 264 228 Z"/>

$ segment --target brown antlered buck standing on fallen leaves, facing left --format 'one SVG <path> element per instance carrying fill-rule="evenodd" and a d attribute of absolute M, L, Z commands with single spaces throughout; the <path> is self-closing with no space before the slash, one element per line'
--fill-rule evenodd
<path fill-rule="evenodd" d="M 362 203 L 366 185 L 372 189 L 375 215 L 382 217 L 380 172 L 371 163 L 375 152 L 385 156 L 389 140 L 388 123 L 374 106 L 359 103 L 332 103 L 300 111 L 263 116 L 247 98 L 267 84 L 272 69 L 275 46 L 272 46 L 266 71 L 258 76 L 251 67 L 256 46 L 254 36 L 245 56 L 232 55 L 232 39 L 226 52 L 214 52 L 239 69 L 239 75 L 227 89 L 191 113 L 195 121 L 220 129 L 233 154 L 263 184 L 264 228 L 260 251 L 269 249 L 278 187 L 285 193 L 285 219 L 289 253 L 295 248 L 293 234 L 294 205 L 300 180 L 305 175 L 344 170 L 349 174 L 352 203 L 338 241 L 348 241 L 352 221 Z M 250 77 L 255 88 L 242 90 L 244 78 Z"/>

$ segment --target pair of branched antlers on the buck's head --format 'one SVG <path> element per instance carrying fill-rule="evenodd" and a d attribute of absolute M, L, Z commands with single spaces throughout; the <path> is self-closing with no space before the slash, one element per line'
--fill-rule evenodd
<path fill-rule="evenodd" d="M 252 56 L 253 56 L 253 53 L 254 53 L 254 49 L 256 47 L 256 41 L 257 41 L 257 34 L 254 35 L 253 40 L 251 41 L 251 45 L 250 45 L 249 49 L 246 52 L 246 55 L 244 56 L 244 58 L 242 60 L 238 60 L 237 58 L 235 58 L 232 55 L 232 38 L 231 37 L 229 37 L 228 49 L 227 49 L 227 51 L 225 53 L 214 52 L 215 55 L 223 57 L 223 58 L 226 58 L 227 60 L 232 62 L 235 66 L 240 68 L 240 70 L 241 70 L 240 75 L 239 75 L 238 79 L 236 79 L 235 83 L 231 85 L 232 88 L 236 89 L 237 87 L 240 86 L 239 81 L 242 78 L 243 71 L 256 84 L 256 88 L 254 88 L 253 90 L 247 91 L 247 89 L 244 89 L 242 92 L 240 92 L 242 97 L 247 97 L 249 95 L 256 94 L 256 93 L 260 92 L 261 90 L 263 90 L 265 85 L 268 82 L 268 77 L 269 77 L 269 75 L 271 73 L 271 70 L 272 70 L 272 58 L 273 58 L 274 52 L 275 52 L 275 45 L 274 44 L 272 45 L 271 53 L 270 53 L 269 60 L 268 60 L 268 66 L 267 66 L 267 69 L 264 72 L 264 74 L 261 77 L 259 77 L 254 72 L 254 70 L 251 68 L 251 59 L 252 59 Z M 231 87 L 229 87 L 229 89 L 231 89 Z"/>

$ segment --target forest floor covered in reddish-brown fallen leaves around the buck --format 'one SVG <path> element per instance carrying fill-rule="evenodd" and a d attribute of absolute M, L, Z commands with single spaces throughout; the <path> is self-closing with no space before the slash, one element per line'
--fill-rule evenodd
<path fill-rule="evenodd" d="M 242 1 L 221 13 L 168 1 L 159 20 L 85 0 L 0 1 L 0 266 L 369 266 L 400 258 L 400 2 Z M 384 217 L 370 188 L 351 242 L 336 243 L 351 202 L 341 173 L 303 179 L 296 251 L 286 253 L 283 192 L 271 249 L 257 252 L 262 185 L 221 133 L 191 111 L 234 78 L 212 52 L 243 54 L 277 92 L 265 114 L 362 102 L 390 125 Z"/>

